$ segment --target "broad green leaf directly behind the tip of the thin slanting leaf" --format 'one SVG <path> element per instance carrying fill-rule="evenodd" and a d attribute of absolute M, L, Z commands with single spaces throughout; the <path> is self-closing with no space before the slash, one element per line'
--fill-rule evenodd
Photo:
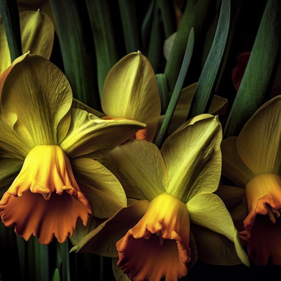
<path fill-rule="evenodd" d="M 196 55 L 202 52 L 203 46 L 202 41 L 205 38 L 205 32 L 208 27 L 209 21 L 207 18 L 211 14 L 214 8 L 214 1 L 211 0 L 188 0 L 184 15 L 180 22 L 177 36 L 175 38 L 169 59 L 165 67 L 165 74 L 168 83 L 169 97 L 172 96 L 172 92 L 175 88 L 177 78 L 179 76 L 180 66 L 184 57 L 184 52 L 186 49 L 186 38 L 189 35 L 191 27 L 194 26 L 196 38 L 195 38 L 195 48 L 194 54 Z M 202 54 L 201 54 L 202 55 Z M 200 63 L 198 64 L 198 58 L 196 57 L 195 64 L 198 69 L 200 69 Z M 196 74 L 195 69 L 192 72 Z M 193 74 L 194 76 L 194 74 Z M 195 77 L 197 80 L 198 77 Z M 190 80 L 190 79 L 189 79 Z M 191 84 L 194 81 L 188 81 Z"/>

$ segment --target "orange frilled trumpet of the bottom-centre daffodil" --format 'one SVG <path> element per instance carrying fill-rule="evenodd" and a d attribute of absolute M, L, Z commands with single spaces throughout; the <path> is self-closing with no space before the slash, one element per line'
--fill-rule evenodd
<path fill-rule="evenodd" d="M 118 265 L 134 281 L 177 281 L 190 261 L 189 215 L 183 202 L 168 194 L 152 200 L 143 218 L 116 243 Z"/>

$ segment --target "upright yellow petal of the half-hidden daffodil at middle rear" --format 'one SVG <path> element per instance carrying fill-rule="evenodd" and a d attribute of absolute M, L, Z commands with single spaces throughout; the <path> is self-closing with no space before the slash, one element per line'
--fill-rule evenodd
<path fill-rule="evenodd" d="M 140 52 L 128 54 L 111 68 L 104 82 L 101 102 L 108 116 L 147 124 L 147 140 L 152 141 L 161 101 L 152 66 Z"/>

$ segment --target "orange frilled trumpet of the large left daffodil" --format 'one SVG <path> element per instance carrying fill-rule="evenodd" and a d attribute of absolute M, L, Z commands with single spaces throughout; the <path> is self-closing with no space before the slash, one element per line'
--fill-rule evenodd
<path fill-rule="evenodd" d="M 0 216 L 7 227 L 42 244 L 54 236 L 60 243 L 73 234 L 77 219 L 88 221 L 91 208 L 74 179 L 70 161 L 57 145 L 35 146 L 19 175 L 0 201 Z"/>

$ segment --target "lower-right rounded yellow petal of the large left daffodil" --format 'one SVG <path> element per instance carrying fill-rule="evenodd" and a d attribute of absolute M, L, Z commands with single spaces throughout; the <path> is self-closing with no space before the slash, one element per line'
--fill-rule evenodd
<path fill-rule="evenodd" d="M 127 206 L 125 192 L 116 177 L 90 158 L 72 159 L 75 179 L 98 218 L 108 218 Z"/>

